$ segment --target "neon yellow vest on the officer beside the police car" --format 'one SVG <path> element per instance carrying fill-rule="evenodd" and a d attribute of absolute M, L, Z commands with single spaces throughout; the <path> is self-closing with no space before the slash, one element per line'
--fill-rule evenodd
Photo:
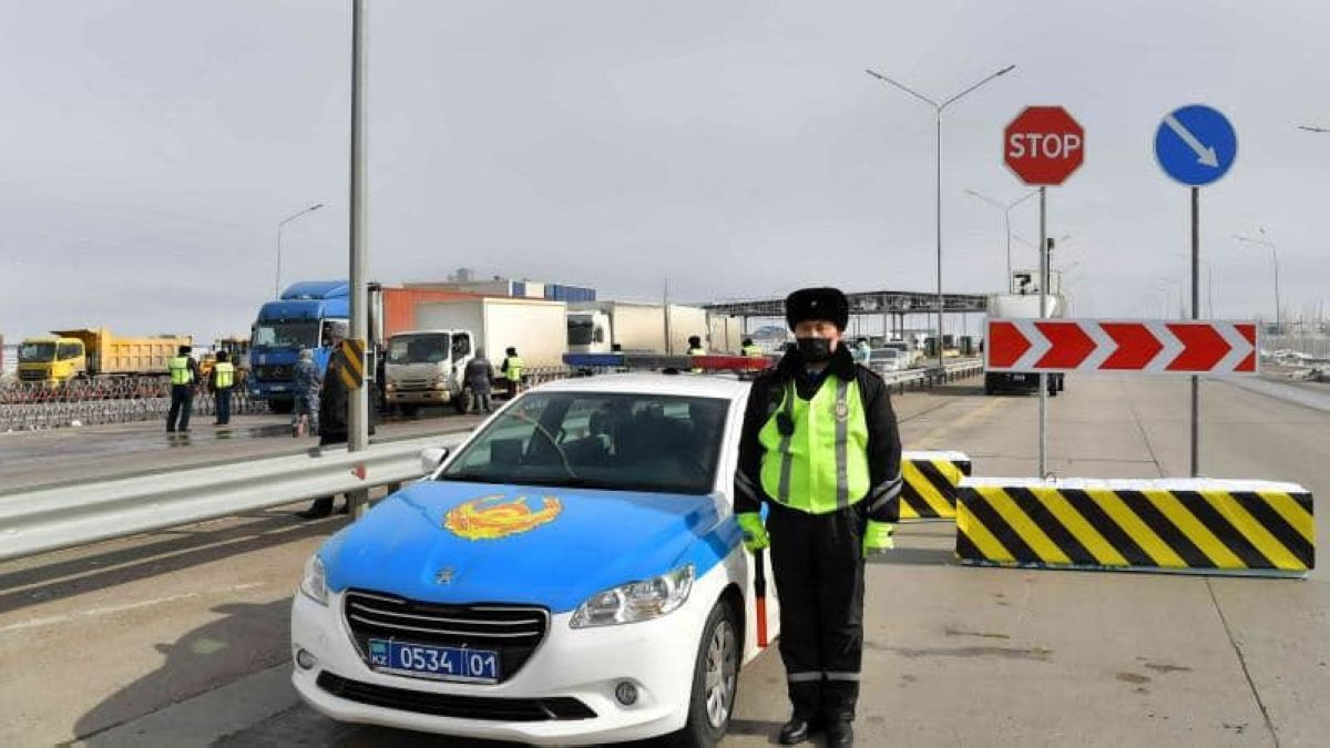
<path fill-rule="evenodd" d="M 781 414 L 794 426 L 791 434 L 781 434 Z M 868 419 L 854 379 L 829 375 L 811 401 L 787 383 L 758 442 L 762 490 L 790 508 L 827 514 L 868 494 Z"/>

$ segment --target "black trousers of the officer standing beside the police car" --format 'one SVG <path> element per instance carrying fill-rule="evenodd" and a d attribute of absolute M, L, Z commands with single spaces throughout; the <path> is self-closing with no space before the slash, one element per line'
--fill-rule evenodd
<path fill-rule="evenodd" d="M 853 720 L 863 660 L 863 503 L 831 514 L 770 504 L 781 660 L 806 720 Z"/>

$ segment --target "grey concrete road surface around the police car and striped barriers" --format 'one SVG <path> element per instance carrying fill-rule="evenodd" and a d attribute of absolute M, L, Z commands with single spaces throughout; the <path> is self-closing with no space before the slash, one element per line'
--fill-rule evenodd
<path fill-rule="evenodd" d="M 1185 475 L 1185 386 L 1069 378 L 1051 401 L 1052 470 Z M 976 474 L 1033 474 L 1035 398 L 987 398 L 967 383 L 895 402 L 907 449 L 966 451 Z M 1206 383 L 1202 472 L 1325 494 L 1330 410 L 1318 402 Z M 305 558 L 343 522 L 274 510 L 0 564 L 0 744 L 468 744 L 342 725 L 297 703 L 290 595 Z M 1322 512 L 1321 536 L 1325 523 Z M 1322 570 L 1289 580 L 970 568 L 951 547 L 950 524 L 911 526 L 870 567 L 863 745 L 1330 736 Z M 725 744 L 773 743 L 786 708 L 769 652 L 743 671 Z"/>

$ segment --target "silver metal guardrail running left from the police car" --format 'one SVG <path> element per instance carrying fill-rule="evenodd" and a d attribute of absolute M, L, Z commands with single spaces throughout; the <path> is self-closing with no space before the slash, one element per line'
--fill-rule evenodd
<path fill-rule="evenodd" d="M 420 478 L 420 450 L 439 434 L 307 454 L 0 494 L 0 560 Z"/>

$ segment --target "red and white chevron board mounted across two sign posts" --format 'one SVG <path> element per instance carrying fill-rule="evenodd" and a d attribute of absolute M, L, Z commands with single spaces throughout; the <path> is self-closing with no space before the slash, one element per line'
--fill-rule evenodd
<path fill-rule="evenodd" d="M 1254 375 L 1256 322 L 988 319 L 986 371 Z"/>

